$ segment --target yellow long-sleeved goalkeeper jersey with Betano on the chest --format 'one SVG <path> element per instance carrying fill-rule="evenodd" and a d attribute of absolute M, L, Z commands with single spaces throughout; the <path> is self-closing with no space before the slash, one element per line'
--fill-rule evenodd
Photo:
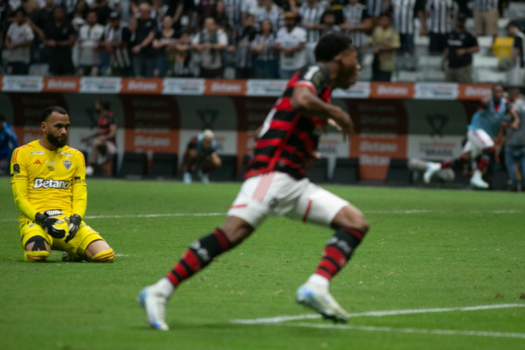
<path fill-rule="evenodd" d="M 20 220 L 37 212 L 85 214 L 87 190 L 84 155 L 69 146 L 49 151 L 38 140 L 16 148 L 11 157 L 11 186 Z M 52 212 L 49 212 L 52 216 Z M 56 214 L 56 212 L 55 212 Z"/>

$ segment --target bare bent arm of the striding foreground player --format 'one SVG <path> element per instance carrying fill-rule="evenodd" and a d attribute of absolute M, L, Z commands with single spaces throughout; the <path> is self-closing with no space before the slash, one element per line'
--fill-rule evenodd
<path fill-rule="evenodd" d="M 353 122 L 339 106 L 328 104 L 311 92 L 309 87 L 297 86 L 293 89 L 291 106 L 294 111 L 310 118 L 332 119 L 343 133 L 349 137 L 353 134 Z"/>

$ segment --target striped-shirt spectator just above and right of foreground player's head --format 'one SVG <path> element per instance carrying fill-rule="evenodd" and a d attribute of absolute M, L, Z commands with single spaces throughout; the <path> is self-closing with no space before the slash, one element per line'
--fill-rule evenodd
<path fill-rule="evenodd" d="M 373 28 L 372 18 L 368 15 L 365 5 L 359 3 L 359 0 L 350 0 L 349 4 L 343 8 L 344 23 L 340 25 L 344 34 L 352 39 L 353 47 L 358 52 L 360 62 L 360 49 L 368 43 L 368 36 L 365 34 Z"/>

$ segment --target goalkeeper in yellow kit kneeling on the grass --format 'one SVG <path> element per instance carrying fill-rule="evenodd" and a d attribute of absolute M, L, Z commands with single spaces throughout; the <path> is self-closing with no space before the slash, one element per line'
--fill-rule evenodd
<path fill-rule="evenodd" d="M 45 262 L 55 250 L 64 251 L 66 261 L 113 262 L 113 249 L 82 221 L 87 207 L 85 161 L 80 151 L 66 146 L 67 112 L 48 107 L 41 129 L 41 139 L 16 148 L 11 158 L 24 260 Z"/>

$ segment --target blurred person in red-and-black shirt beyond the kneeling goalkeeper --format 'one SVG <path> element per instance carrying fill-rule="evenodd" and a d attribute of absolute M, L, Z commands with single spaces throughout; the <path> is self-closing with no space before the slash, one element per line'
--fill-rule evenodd
<path fill-rule="evenodd" d="M 85 174 L 92 176 L 94 168 L 100 165 L 103 176 L 111 176 L 113 168 L 113 155 L 117 152 L 115 137 L 117 134 L 117 121 L 108 101 L 99 100 L 94 104 L 94 111 L 98 114 L 98 130 L 94 134 L 82 137 L 80 140 L 92 142 L 90 165 L 85 168 Z"/>

